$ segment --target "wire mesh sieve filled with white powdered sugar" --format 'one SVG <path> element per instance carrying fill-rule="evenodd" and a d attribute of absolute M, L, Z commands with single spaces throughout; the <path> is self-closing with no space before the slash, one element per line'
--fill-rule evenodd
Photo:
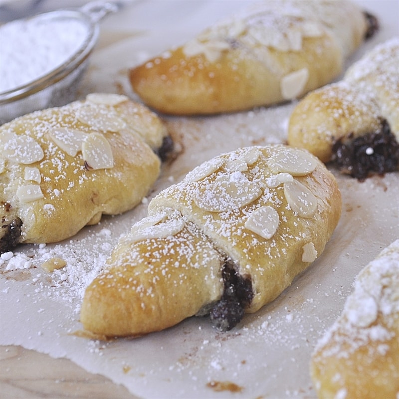
<path fill-rule="evenodd" d="M 0 26 L 0 124 L 75 99 L 113 1 L 51 11 Z"/>

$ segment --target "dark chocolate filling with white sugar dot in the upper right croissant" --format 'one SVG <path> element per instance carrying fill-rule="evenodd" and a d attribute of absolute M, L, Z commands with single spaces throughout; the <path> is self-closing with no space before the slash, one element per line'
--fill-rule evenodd
<path fill-rule="evenodd" d="M 399 168 L 399 144 L 386 121 L 379 132 L 357 137 L 348 144 L 337 140 L 333 154 L 332 161 L 338 169 L 360 181 Z"/>

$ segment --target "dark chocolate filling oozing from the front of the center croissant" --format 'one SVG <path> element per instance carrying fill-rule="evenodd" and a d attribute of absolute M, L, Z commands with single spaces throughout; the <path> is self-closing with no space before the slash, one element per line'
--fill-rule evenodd
<path fill-rule="evenodd" d="M 253 298 L 250 277 L 241 276 L 231 260 L 226 260 L 221 272 L 224 289 L 222 297 L 210 311 L 212 326 L 220 331 L 231 330 L 244 316 Z"/>

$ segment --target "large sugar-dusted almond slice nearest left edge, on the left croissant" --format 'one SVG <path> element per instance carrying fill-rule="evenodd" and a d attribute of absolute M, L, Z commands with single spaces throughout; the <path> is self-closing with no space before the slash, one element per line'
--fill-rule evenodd
<path fill-rule="evenodd" d="M 40 145 L 27 135 L 14 133 L 5 135 L 1 140 L 2 156 L 18 164 L 30 165 L 41 161 L 44 152 Z"/>

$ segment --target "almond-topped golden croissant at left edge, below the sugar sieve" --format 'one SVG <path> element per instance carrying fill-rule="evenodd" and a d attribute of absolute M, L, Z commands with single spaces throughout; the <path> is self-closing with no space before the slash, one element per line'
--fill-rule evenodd
<path fill-rule="evenodd" d="M 96 135 L 100 143 L 105 138 L 113 166 L 93 169 L 80 147 L 76 154 L 68 153 L 71 134 L 83 139 Z M 155 151 L 165 137 L 166 128 L 154 113 L 126 96 L 112 94 L 91 94 L 85 101 L 2 125 L 1 252 L 21 242 L 60 241 L 97 223 L 102 214 L 133 208 L 159 176 L 161 161 Z M 98 151 L 101 162 L 106 150 L 100 145 Z M 28 193 L 21 194 L 21 188 L 38 191 L 41 198 L 32 200 Z"/>

